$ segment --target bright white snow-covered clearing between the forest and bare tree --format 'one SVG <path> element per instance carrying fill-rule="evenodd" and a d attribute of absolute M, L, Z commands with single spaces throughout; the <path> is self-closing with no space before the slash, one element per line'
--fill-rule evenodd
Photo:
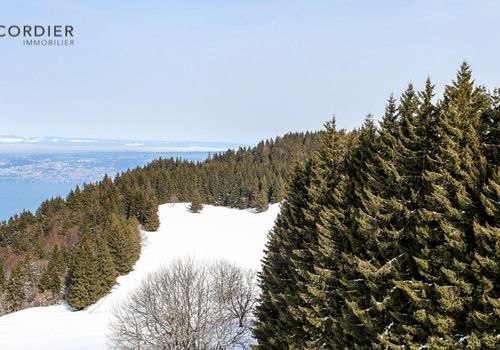
<path fill-rule="evenodd" d="M 36 307 L 0 317 L 0 349 L 103 349 L 113 305 L 120 303 L 150 272 L 173 258 L 226 259 L 258 269 L 267 233 L 279 212 L 264 213 L 205 206 L 199 214 L 188 204 L 160 206 L 160 228 L 144 233 L 134 270 L 118 278 L 110 294 L 83 311 L 66 305 Z"/>

